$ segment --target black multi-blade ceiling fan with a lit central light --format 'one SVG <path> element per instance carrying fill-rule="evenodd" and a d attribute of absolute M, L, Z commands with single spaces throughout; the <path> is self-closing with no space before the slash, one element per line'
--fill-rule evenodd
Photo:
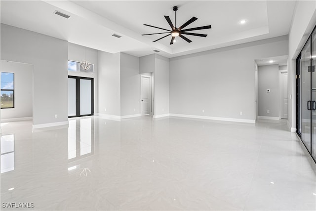
<path fill-rule="evenodd" d="M 173 44 L 174 42 L 174 39 L 176 37 L 180 37 L 182 38 L 183 40 L 187 41 L 187 42 L 192 42 L 191 40 L 189 40 L 188 38 L 186 38 L 185 36 L 183 35 L 193 35 L 193 36 L 199 36 L 199 37 L 206 37 L 207 35 L 205 34 L 197 34 L 197 33 L 190 33 L 188 31 L 194 31 L 194 30 L 201 30 L 201 29 L 211 29 L 211 25 L 208 25 L 208 26 L 200 26 L 200 27 L 195 27 L 195 28 L 191 28 L 191 29 L 183 29 L 184 27 L 188 26 L 189 24 L 191 24 L 192 22 L 196 21 L 197 18 L 196 17 L 193 17 L 191 18 L 190 20 L 188 20 L 187 22 L 185 22 L 182 26 L 180 26 L 179 28 L 176 27 L 176 11 L 178 10 L 178 7 L 177 6 L 174 6 L 173 7 L 173 11 L 174 11 L 174 25 L 172 24 L 169 16 L 166 16 L 164 15 L 164 18 L 167 20 L 168 24 L 170 25 L 171 27 L 171 30 L 168 30 L 168 29 L 163 29 L 163 28 L 160 28 L 160 27 L 156 27 L 156 26 L 151 26 L 151 25 L 148 25 L 148 24 L 144 24 L 145 26 L 150 26 L 150 27 L 154 27 L 154 28 L 157 28 L 157 29 L 162 29 L 162 30 L 165 30 L 165 31 L 168 31 L 168 32 L 162 32 L 162 33 L 154 33 L 154 34 L 145 34 L 145 35 L 158 35 L 158 34 L 167 34 L 166 36 L 162 37 L 162 38 L 165 38 L 169 35 L 172 36 L 171 38 L 171 42 L 170 44 Z M 162 38 L 159 38 L 158 40 L 161 40 Z M 156 40 L 156 41 L 158 41 Z M 153 42 L 156 42 L 156 41 L 153 41 Z"/>

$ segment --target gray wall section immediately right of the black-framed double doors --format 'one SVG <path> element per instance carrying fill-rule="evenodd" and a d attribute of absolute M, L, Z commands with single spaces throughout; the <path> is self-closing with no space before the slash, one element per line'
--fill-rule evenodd
<path fill-rule="evenodd" d="M 98 51 L 98 90 L 99 113 L 120 116 L 120 53 Z"/>

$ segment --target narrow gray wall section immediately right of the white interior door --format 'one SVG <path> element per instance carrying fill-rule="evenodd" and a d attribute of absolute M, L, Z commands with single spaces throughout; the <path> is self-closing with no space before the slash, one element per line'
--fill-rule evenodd
<path fill-rule="evenodd" d="M 169 114 L 169 59 L 155 54 L 154 115 Z"/>

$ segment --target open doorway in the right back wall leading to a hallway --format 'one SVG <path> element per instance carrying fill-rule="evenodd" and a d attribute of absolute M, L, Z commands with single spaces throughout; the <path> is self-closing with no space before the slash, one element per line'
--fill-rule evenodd
<path fill-rule="evenodd" d="M 287 119 L 287 55 L 255 60 L 256 120 Z"/>

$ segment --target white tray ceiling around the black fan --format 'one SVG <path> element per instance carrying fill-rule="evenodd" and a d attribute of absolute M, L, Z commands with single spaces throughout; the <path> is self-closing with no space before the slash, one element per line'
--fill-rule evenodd
<path fill-rule="evenodd" d="M 154 53 L 175 57 L 209 49 L 267 39 L 289 32 L 296 1 L 293 0 L 1 0 L 1 23 L 31 30 L 79 45 L 110 53 L 126 52 L 135 56 Z M 141 34 L 164 32 L 144 26 L 149 24 L 169 29 L 163 15 L 174 23 L 173 6 L 178 6 L 177 27 L 193 16 L 197 21 L 187 28 L 211 25 L 212 29 L 193 33 L 206 38 L 186 36 L 188 43 L 171 36 L 152 42 L 162 35 Z M 55 10 L 71 15 L 65 19 Z M 244 25 L 239 20 L 246 19 Z M 115 38 L 118 34 L 121 38 Z"/>

